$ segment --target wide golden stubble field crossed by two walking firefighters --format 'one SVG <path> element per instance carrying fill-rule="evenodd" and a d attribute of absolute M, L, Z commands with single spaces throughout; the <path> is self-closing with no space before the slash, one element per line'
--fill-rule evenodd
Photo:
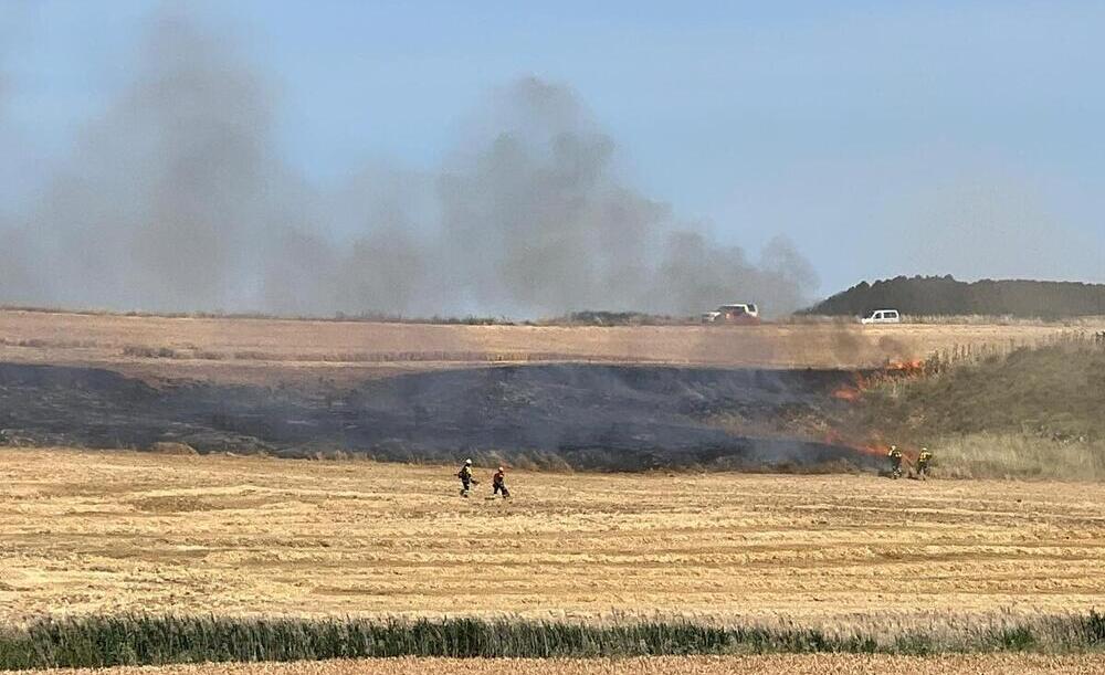
<path fill-rule="evenodd" d="M 0 622 L 104 611 L 817 622 L 1105 604 L 1105 485 L 0 450 Z M 849 619 L 851 620 L 851 619 Z M 705 671 L 704 671 L 705 672 Z"/>

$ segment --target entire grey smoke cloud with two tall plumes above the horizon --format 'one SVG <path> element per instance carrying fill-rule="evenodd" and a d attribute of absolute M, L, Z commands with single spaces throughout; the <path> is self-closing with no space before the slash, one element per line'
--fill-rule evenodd
<path fill-rule="evenodd" d="M 273 83 L 193 23 L 151 24 L 141 68 L 29 212 L 0 221 L 0 302 L 302 315 L 585 308 L 775 313 L 817 280 L 786 240 L 754 262 L 619 175 L 566 86 L 493 93 L 439 171 L 308 186 L 280 155 Z"/>

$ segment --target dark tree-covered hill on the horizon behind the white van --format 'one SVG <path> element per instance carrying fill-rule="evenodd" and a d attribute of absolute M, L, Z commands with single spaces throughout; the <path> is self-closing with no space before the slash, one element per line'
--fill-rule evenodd
<path fill-rule="evenodd" d="M 861 282 L 818 303 L 807 314 L 862 315 L 873 309 L 903 314 L 1024 318 L 1105 315 L 1105 284 L 1022 280 L 960 282 L 948 276 L 897 276 Z"/>

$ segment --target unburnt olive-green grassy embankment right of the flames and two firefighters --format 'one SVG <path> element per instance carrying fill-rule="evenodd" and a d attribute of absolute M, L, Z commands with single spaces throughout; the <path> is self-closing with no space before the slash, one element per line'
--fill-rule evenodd
<path fill-rule="evenodd" d="M 991 354 L 864 392 L 862 424 L 927 445 L 946 477 L 1105 479 L 1105 345 Z"/>

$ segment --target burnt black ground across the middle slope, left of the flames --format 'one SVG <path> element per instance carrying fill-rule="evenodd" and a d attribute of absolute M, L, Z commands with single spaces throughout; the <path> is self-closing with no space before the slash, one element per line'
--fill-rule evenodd
<path fill-rule="evenodd" d="M 94 368 L 0 363 L 0 443 L 399 462 L 465 455 L 535 466 L 870 468 L 848 447 L 712 426 L 819 413 L 851 375 L 834 370 L 541 365 L 431 371 L 332 391 L 172 381 Z"/>

